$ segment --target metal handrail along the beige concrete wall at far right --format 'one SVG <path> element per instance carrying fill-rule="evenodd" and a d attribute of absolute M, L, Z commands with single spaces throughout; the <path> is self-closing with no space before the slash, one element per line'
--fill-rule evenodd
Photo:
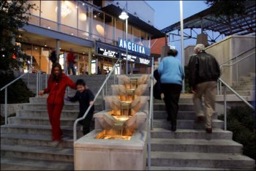
<path fill-rule="evenodd" d="M 249 52 L 250 50 L 254 50 L 254 49 L 255 49 L 255 47 L 252 47 L 249 50 L 246 50 L 243 53 L 238 54 L 234 58 L 231 58 L 231 59 L 225 61 L 223 64 L 219 65 L 219 69 L 222 69 L 223 66 L 233 66 L 233 65 L 238 64 L 239 62 L 243 61 L 244 59 L 251 57 L 253 54 L 255 54 L 255 52 L 249 53 L 249 55 L 246 55 L 246 56 L 244 56 L 243 58 L 241 58 L 239 60 L 237 59 L 239 56 L 244 55 L 245 53 Z M 235 62 L 233 62 L 232 64 L 227 64 L 230 61 L 233 61 L 234 59 L 236 59 Z M 238 66 L 236 66 L 236 81 L 238 81 Z M 218 80 L 218 83 L 217 83 L 217 94 L 222 95 L 222 83 L 219 82 L 219 80 Z"/>

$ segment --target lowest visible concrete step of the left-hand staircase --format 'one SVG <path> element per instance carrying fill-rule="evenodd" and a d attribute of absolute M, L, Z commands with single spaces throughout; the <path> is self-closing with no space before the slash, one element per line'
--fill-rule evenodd
<path fill-rule="evenodd" d="M 73 162 L 1 156 L 1 170 L 74 170 Z"/>

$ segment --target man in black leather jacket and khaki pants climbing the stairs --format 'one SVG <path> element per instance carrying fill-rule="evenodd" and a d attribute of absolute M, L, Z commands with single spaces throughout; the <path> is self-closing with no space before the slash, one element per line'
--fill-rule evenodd
<path fill-rule="evenodd" d="M 205 52 L 205 46 L 195 46 L 195 55 L 189 59 L 189 86 L 194 94 L 195 113 L 197 122 L 206 117 L 206 132 L 211 133 L 211 116 L 215 109 L 217 94 L 217 79 L 220 76 L 219 64 L 214 56 Z M 205 99 L 203 110 L 202 96 Z"/>

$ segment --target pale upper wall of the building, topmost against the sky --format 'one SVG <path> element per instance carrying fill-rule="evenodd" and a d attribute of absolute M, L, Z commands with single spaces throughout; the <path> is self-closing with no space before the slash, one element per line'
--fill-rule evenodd
<path fill-rule="evenodd" d="M 138 16 L 140 20 L 143 20 L 146 23 L 150 20 L 149 24 L 154 25 L 154 9 L 149 6 L 146 1 L 106 1 L 105 5 L 114 4 L 123 9 L 126 6 L 126 2 L 129 13 L 135 15 L 136 12 L 137 15 L 135 16 Z"/>

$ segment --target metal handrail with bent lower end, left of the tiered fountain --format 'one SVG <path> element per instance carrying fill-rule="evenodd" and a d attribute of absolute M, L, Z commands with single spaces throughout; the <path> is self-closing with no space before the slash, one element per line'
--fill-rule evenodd
<path fill-rule="evenodd" d="M 119 60 L 121 60 L 121 58 L 118 58 L 118 60 L 116 61 L 116 64 L 118 64 L 118 61 Z M 110 71 L 110 73 L 108 74 L 108 77 L 105 79 L 105 81 L 102 83 L 102 86 L 99 88 L 99 91 L 97 92 L 97 94 L 96 94 L 96 96 L 94 96 L 94 101 L 93 102 L 95 102 L 96 101 L 96 99 L 98 98 L 98 96 L 99 96 L 99 94 L 100 94 L 100 92 L 101 91 L 104 91 L 104 86 L 105 86 L 105 84 L 108 82 L 108 79 L 110 78 L 110 75 L 112 75 L 112 73 L 113 72 L 115 72 L 115 69 L 116 69 L 116 64 L 113 66 L 113 68 L 111 69 L 111 71 Z M 103 92 L 102 92 L 102 94 L 104 94 Z M 103 100 L 103 99 L 102 99 Z M 77 118 L 76 120 L 75 120 L 75 123 L 74 123 L 74 126 L 73 126 L 73 140 L 74 140 L 74 142 L 77 140 L 77 130 L 76 130 L 76 127 L 77 127 L 77 124 L 78 124 L 78 122 L 79 121 L 82 121 L 84 118 L 86 118 L 86 115 L 89 113 L 89 111 L 91 110 L 91 107 L 92 107 L 93 105 L 89 105 L 89 107 L 87 108 L 87 110 L 86 110 L 86 113 L 84 113 L 83 114 L 83 117 L 81 117 L 81 118 Z"/>

